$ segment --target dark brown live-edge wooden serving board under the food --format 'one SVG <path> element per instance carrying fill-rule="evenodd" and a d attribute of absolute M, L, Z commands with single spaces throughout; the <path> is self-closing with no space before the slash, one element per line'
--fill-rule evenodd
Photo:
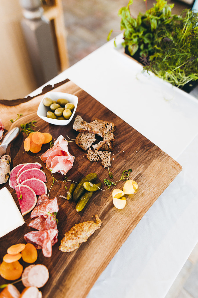
<path fill-rule="evenodd" d="M 87 122 L 90 122 L 94 118 L 99 118 L 115 123 L 117 127 L 115 131 L 116 141 L 112 153 L 112 165 L 110 166 L 113 181 L 120 179 L 123 170 L 132 169 L 129 178 L 138 183 L 137 193 L 127 197 L 126 206 L 121 210 L 113 206 L 112 190 L 113 188 L 122 189 L 123 181 L 107 191 L 95 192 L 81 212 L 76 211 L 74 201 L 67 201 L 59 197 L 59 195 L 66 195 L 64 183 L 55 181 L 50 190 L 50 199 L 56 196 L 59 205 L 57 215 L 58 243 L 53 246 L 52 257 L 50 258 L 43 257 L 42 252 L 38 251 L 36 263 L 46 265 L 50 273 L 47 284 L 40 290 L 44 298 L 85 298 L 99 275 L 130 235 L 142 216 L 178 175 L 182 167 L 151 141 L 69 80 L 65 80 L 53 87 L 45 87 L 42 94 L 34 98 L 28 97 L 12 102 L 1 100 L 1 118 L 6 130 L 9 131 L 13 127 L 20 127 L 20 124 L 36 120 L 37 129 L 40 129 L 41 132 L 49 132 L 52 134 L 54 140 L 61 134 L 67 140 L 75 139 L 78 134 L 72 128 L 75 117 L 67 126 L 56 126 L 43 121 L 37 116 L 37 108 L 43 94 L 51 89 L 53 91 L 75 94 L 78 97 L 75 116 L 80 115 Z M 10 119 L 15 119 L 17 114 L 23 114 L 23 116 L 14 123 L 11 123 Z M 20 163 L 40 162 L 42 164 L 42 170 L 44 170 L 47 176 L 47 188 L 49 190 L 53 177 L 40 158 L 35 158 L 34 153 L 24 151 L 23 141 L 25 137 L 26 135 L 22 133 L 7 149 L 7 154 L 12 158 L 12 167 Z M 48 145 L 43 145 L 42 152 L 48 148 Z M 75 161 L 66 177 L 69 180 L 80 181 L 88 173 L 95 172 L 98 175 L 97 181 L 101 181 L 102 188 L 107 189 L 104 186 L 104 179 L 109 179 L 108 169 L 102 167 L 100 162 L 89 162 L 85 157 L 85 152 L 75 142 L 69 142 L 68 148 L 69 152 L 75 156 Z M 40 155 L 40 153 L 36 154 L 36 156 Z M 58 173 L 54 174 L 54 176 L 60 181 L 64 179 Z M 69 185 L 69 182 L 66 183 L 67 187 Z M 12 193 L 19 207 L 15 190 L 9 187 L 8 182 L 0 187 L 2 188 L 4 186 Z M 80 244 L 79 248 L 75 251 L 69 253 L 61 252 L 58 247 L 66 231 L 77 223 L 89 220 L 95 221 L 93 217 L 95 214 L 102 220 L 101 228 L 96 230 L 88 238 L 87 242 Z M 23 235 L 33 230 L 28 227 L 30 213 L 24 216 L 24 220 L 26 224 L 0 238 L 1 261 L 10 245 L 20 242 L 25 243 Z M 28 266 L 26 263 L 22 264 L 24 268 Z M 7 283 L 7 281 L 0 278 L 0 284 L 4 283 Z M 16 284 L 16 286 L 22 291 L 23 285 L 21 282 Z"/>

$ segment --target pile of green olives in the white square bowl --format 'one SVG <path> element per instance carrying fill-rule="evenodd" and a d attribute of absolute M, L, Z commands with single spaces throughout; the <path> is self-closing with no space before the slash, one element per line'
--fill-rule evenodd
<path fill-rule="evenodd" d="M 49 97 L 43 99 L 43 104 L 46 107 L 50 107 L 50 111 L 47 111 L 47 118 L 68 120 L 72 116 L 72 111 L 75 106 L 73 103 L 69 103 L 69 100 L 59 98 L 57 101 L 52 100 Z"/>

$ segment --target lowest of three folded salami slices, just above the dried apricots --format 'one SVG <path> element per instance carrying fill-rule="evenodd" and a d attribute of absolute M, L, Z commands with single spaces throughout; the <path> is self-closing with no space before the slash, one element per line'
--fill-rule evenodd
<path fill-rule="evenodd" d="M 42 248 L 44 257 L 51 257 L 52 245 L 57 242 L 58 230 L 32 231 L 24 235 L 27 243 L 32 243 L 37 249 Z"/>

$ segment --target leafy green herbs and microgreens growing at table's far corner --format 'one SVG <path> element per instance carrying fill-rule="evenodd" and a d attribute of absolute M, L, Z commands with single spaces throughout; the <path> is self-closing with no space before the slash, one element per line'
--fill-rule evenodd
<path fill-rule="evenodd" d="M 172 14 L 174 4 L 156 0 L 151 9 L 133 18 L 132 3 L 118 12 L 126 54 L 140 61 L 144 70 L 191 91 L 198 81 L 198 13 L 187 9 L 181 15 Z"/>

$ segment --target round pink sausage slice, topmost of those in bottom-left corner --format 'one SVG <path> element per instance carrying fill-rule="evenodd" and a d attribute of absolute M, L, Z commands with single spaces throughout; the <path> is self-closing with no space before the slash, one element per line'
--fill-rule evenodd
<path fill-rule="evenodd" d="M 30 268 L 29 268 L 30 267 Z M 37 264 L 26 267 L 22 274 L 22 283 L 25 287 L 43 287 L 49 279 L 49 271 L 45 265 Z"/>

